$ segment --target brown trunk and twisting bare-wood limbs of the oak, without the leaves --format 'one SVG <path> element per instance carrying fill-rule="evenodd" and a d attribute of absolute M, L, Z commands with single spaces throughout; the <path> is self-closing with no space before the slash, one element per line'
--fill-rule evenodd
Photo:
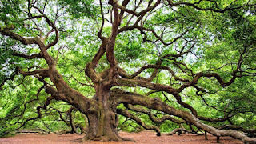
<path fill-rule="evenodd" d="M 58 60 L 58 54 L 57 58 L 52 58 L 52 56 L 48 53 L 47 50 L 51 46 L 54 46 L 58 42 L 58 28 L 55 26 L 54 22 L 50 21 L 50 18 L 46 17 L 46 14 L 43 14 L 39 8 L 36 8 L 36 10 L 39 11 L 40 17 L 34 17 L 34 18 L 45 18 L 48 25 L 52 28 L 52 30 L 49 31 L 49 34 L 51 32 L 55 32 L 55 39 L 53 42 L 50 42 L 48 45 L 46 45 L 46 39 L 48 38 L 49 34 L 46 34 L 44 37 L 43 34 L 40 36 L 36 36 L 33 38 L 25 38 L 22 37 L 22 35 L 18 35 L 14 33 L 15 26 L 6 26 L 5 28 L 0 29 L 0 33 L 2 35 L 9 36 L 10 38 L 13 38 L 15 40 L 18 40 L 19 42 L 22 42 L 24 45 L 30 45 L 30 44 L 36 44 L 40 48 L 40 53 L 33 54 L 31 56 L 26 54 L 18 54 L 14 52 L 14 55 L 22 57 L 22 58 L 43 58 L 46 60 L 48 67 L 46 68 L 37 68 L 37 70 L 34 71 L 23 71 L 21 68 L 17 68 L 15 74 L 22 74 L 23 76 L 34 76 L 35 78 L 38 78 L 40 82 L 44 84 L 42 86 L 42 89 L 45 88 L 45 91 L 47 94 L 50 94 L 50 98 L 47 98 L 47 101 L 45 103 L 45 106 L 43 106 L 44 109 L 46 109 L 46 106 L 50 104 L 50 100 L 56 99 L 61 100 L 64 102 L 69 103 L 70 105 L 74 106 L 77 110 L 81 111 L 83 114 L 86 114 L 88 118 L 88 132 L 84 138 L 79 139 L 78 141 L 83 142 L 85 140 L 101 140 L 101 141 L 122 141 L 126 140 L 124 138 L 120 138 L 117 133 L 117 126 L 118 126 L 118 114 L 122 114 L 126 116 L 126 118 L 134 119 L 134 121 L 138 122 L 138 124 L 142 125 L 146 129 L 150 130 L 156 130 L 158 135 L 160 135 L 160 130 L 157 126 L 146 126 L 145 123 L 142 122 L 138 117 L 134 116 L 133 114 L 130 114 L 128 110 L 122 110 L 118 109 L 117 106 L 121 103 L 126 105 L 126 108 L 132 107 L 132 105 L 140 105 L 145 106 L 148 109 L 158 110 L 162 111 L 164 114 L 169 114 L 169 116 L 175 116 L 178 118 L 182 118 L 182 122 L 188 122 L 191 125 L 194 125 L 198 127 L 199 129 L 205 130 L 209 132 L 210 134 L 214 134 L 217 137 L 220 136 L 231 136 L 234 138 L 239 138 L 243 142 L 251 142 L 255 143 L 255 138 L 248 138 L 245 134 L 242 134 L 238 131 L 234 130 L 218 130 L 214 128 L 213 126 L 208 126 L 200 121 L 206 120 L 209 122 L 222 122 L 225 121 L 228 118 L 223 119 L 217 119 L 217 121 L 214 121 L 210 118 L 203 118 L 198 116 L 197 111 L 190 105 L 186 104 L 186 102 L 182 102 L 182 98 L 179 94 L 182 93 L 182 90 L 185 90 L 187 87 L 194 87 L 194 89 L 198 90 L 199 92 L 206 92 L 203 88 L 200 88 L 197 86 L 198 80 L 200 78 L 216 78 L 220 86 L 226 87 L 230 86 L 231 83 L 235 81 L 236 78 L 242 77 L 240 74 L 240 69 L 242 68 L 242 59 L 244 59 L 244 55 L 246 55 L 246 48 L 245 46 L 243 52 L 240 54 L 240 58 L 238 60 L 238 66 L 236 70 L 232 73 L 232 78 L 230 78 L 229 82 L 225 82 L 220 75 L 217 73 L 204 73 L 204 72 L 198 72 L 195 73 L 192 70 L 190 70 L 185 63 L 178 62 L 178 58 L 182 58 L 184 54 L 190 54 L 192 48 L 194 47 L 194 44 L 191 47 L 183 46 L 181 51 L 176 51 L 177 53 L 173 54 L 166 54 L 163 56 L 159 56 L 158 62 L 156 62 L 155 65 L 147 65 L 142 66 L 140 70 L 135 72 L 134 74 L 126 74 L 125 70 L 122 70 L 118 66 L 118 62 L 116 58 L 114 57 L 114 47 L 115 42 L 118 34 L 137 29 L 139 30 L 143 35 L 143 42 L 153 42 L 156 44 L 156 42 L 160 41 L 165 46 L 170 46 L 174 42 L 180 40 L 180 39 L 186 39 L 185 34 L 189 30 L 184 30 L 181 34 L 174 34 L 177 35 L 177 38 L 174 38 L 170 42 L 165 42 L 165 38 L 162 39 L 162 36 L 159 36 L 158 33 L 154 29 L 150 29 L 150 27 L 144 27 L 143 23 L 145 19 L 145 15 L 147 13 L 150 13 L 150 11 L 154 10 L 156 6 L 160 5 L 161 1 L 158 0 L 157 2 L 150 1 L 148 3 L 148 7 L 145 10 L 142 10 L 141 12 L 137 12 L 137 10 L 129 10 L 126 9 L 126 5 L 130 1 L 124 0 L 122 4 L 120 5 L 118 1 L 116 0 L 110 0 L 108 3 L 112 6 L 111 12 L 113 10 L 113 19 L 111 19 L 112 29 L 111 34 L 105 38 L 102 36 L 102 29 L 104 26 L 104 14 L 102 10 L 102 27 L 98 32 L 98 38 L 102 40 L 102 45 L 99 47 L 98 52 L 94 55 L 94 58 L 87 63 L 85 73 L 86 77 L 90 78 L 90 82 L 93 83 L 91 85 L 94 87 L 95 90 L 95 96 L 94 98 L 86 98 L 83 94 L 79 93 L 77 90 L 74 90 L 68 84 L 64 81 L 64 78 L 62 78 L 62 74 L 58 72 L 56 69 L 57 60 Z M 205 9 L 198 7 L 198 3 L 202 2 L 199 1 L 198 3 L 188 3 L 188 2 L 177 2 L 173 3 L 172 1 L 167 1 L 168 4 L 166 5 L 173 7 L 173 6 L 192 6 L 197 10 L 212 10 L 215 12 L 224 12 L 224 10 L 218 10 L 216 9 Z M 101 1 L 100 1 L 101 3 Z M 28 3 L 30 5 L 30 2 Z M 102 6 L 102 3 L 101 3 Z M 136 6 L 135 6 L 136 7 Z M 232 7 L 232 6 L 230 6 Z M 234 8 L 238 9 L 238 8 Z M 228 9 L 226 9 L 228 10 Z M 232 10 L 232 9 L 229 9 Z M 134 19 L 134 23 L 127 23 L 126 25 L 121 25 L 122 18 L 124 18 L 124 14 L 131 14 L 133 15 L 131 18 L 136 17 L 137 19 Z M 56 14 L 58 15 L 58 14 Z M 29 15 L 31 18 L 31 15 Z M 143 18 L 144 17 L 144 18 Z M 112 18 L 112 17 L 111 17 Z M 146 22 L 146 21 L 145 21 Z M 141 24 L 139 24 L 141 23 Z M 119 26 L 122 26 L 119 28 Z M 182 26 L 183 27 L 183 26 Z M 118 29 L 119 28 L 119 29 Z M 152 36 L 155 37 L 157 40 L 152 41 L 148 38 L 147 34 L 152 33 Z M 151 37 L 151 36 L 150 36 Z M 184 37 L 184 38 L 183 38 Z M 189 36 L 190 37 L 190 36 Z M 154 38 L 153 38 L 154 39 Z M 187 41 L 184 41 L 187 44 Z M 181 42 L 182 43 L 182 42 Z M 184 49 L 184 48 L 187 48 Z M 102 57 L 106 55 L 106 59 L 108 61 L 108 64 L 110 66 L 109 69 L 103 70 L 102 72 L 96 72 L 98 70 L 95 70 L 97 68 L 98 63 L 102 59 Z M 159 54 L 162 55 L 162 54 Z M 177 59 L 176 59 L 177 58 Z M 177 65 L 178 73 L 184 73 L 186 77 L 179 77 L 176 75 L 176 72 L 174 72 L 171 68 L 171 66 L 162 66 L 162 62 L 164 62 L 164 59 L 170 60 L 174 65 Z M 154 72 L 150 75 L 150 78 L 142 78 L 139 76 L 144 70 L 146 69 L 154 69 Z M 168 70 L 171 77 L 174 78 L 175 81 L 178 81 L 180 84 L 179 86 L 171 86 L 171 85 L 164 85 L 159 84 L 158 82 L 152 82 L 153 79 L 156 77 L 158 70 Z M 190 73 L 187 73 L 186 71 L 190 71 Z M 242 72 L 241 72 L 242 74 Z M 49 80 L 45 80 L 45 78 L 50 78 Z M 53 84 L 52 84 L 53 83 Z M 166 104 L 166 102 L 162 102 L 159 98 L 149 98 L 144 95 L 140 94 L 134 94 L 130 92 L 124 92 L 122 90 L 110 90 L 114 86 L 132 86 L 132 87 L 145 87 L 149 90 L 156 90 L 156 91 L 162 91 L 166 92 L 168 94 L 171 94 L 174 98 L 176 98 L 177 102 L 183 106 L 186 109 L 189 109 L 190 112 L 186 110 L 177 110 L 173 106 L 170 106 Z M 40 93 L 41 88 L 38 90 L 38 94 Z M 42 107 L 38 106 L 38 118 L 41 117 L 42 114 L 40 114 L 40 109 Z M 132 109 L 136 109 L 134 106 Z M 146 109 L 142 110 L 145 114 L 150 115 L 150 112 L 146 111 Z M 151 119 L 152 116 L 150 117 Z M 175 122 L 181 122 L 179 120 L 174 120 L 173 118 L 169 119 L 175 121 Z"/>

